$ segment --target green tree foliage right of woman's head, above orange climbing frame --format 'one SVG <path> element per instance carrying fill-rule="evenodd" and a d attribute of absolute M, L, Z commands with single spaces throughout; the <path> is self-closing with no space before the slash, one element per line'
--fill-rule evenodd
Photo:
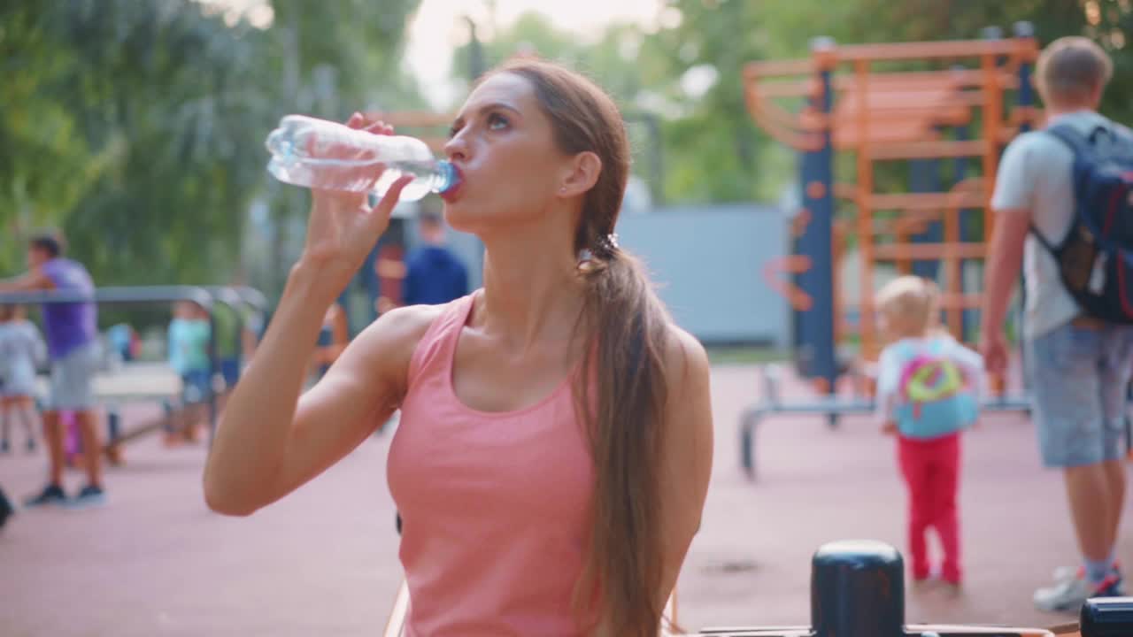
<path fill-rule="evenodd" d="M 1133 42 L 1126 42 L 1131 0 L 670 0 L 661 10 L 667 19 L 655 33 L 615 25 L 582 42 L 528 15 L 494 34 L 484 50 L 492 65 L 527 44 L 587 71 L 623 108 L 659 114 L 664 190 L 671 202 L 781 196 L 793 178 L 794 154 L 752 124 L 741 74 L 749 61 L 804 58 L 819 36 L 843 44 L 970 40 L 989 26 L 1010 36 L 1021 20 L 1034 25 L 1043 44 L 1085 35 L 1115 61 L 1104 110 L 1133 121 Z M 632 45 L 624 43 L 628 34 L 637 39 Z M 467 46 L 458 50 L 455 73 L 467 74 L 468 54 Z M 697 77 L 700 90 L 690 91 Z"/>

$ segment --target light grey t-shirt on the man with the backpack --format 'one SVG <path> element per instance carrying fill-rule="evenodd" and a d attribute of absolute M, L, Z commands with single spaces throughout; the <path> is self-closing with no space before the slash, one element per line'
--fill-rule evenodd
<path fill-rule="evenodd" d="M 1131 135 L 1125 127 L 1093 111 L 1062 114 L 1049 124 L 1068 124 L 1083 134 L 1106 126 Z M 1058 245 L 1070 232 L 1074 218 L 1073 163 L 1074 153 L 1053 135 L 1041 130 L 1020 135 L 1007 146 L 999 162 L 991 207 L 1029 213 L 1031 226 L 1048 243 Z M 1063 287 L 1054 256 L 1031 235 L 1026 236 L 1023 247 L 1023 274 L 1026 280 L 1025 338 L 1041 337 L 1081 313 L 1074 297 Z"/>

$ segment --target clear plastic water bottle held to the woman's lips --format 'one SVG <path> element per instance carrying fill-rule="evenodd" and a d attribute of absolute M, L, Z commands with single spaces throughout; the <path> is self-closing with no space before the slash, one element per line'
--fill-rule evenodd
<path fill-rule="evenodd" d="M 443 194 L 460 182 L 451 162 L 437 160 L 416 137 L 374 135 L 312 117 L 289 114 L 267 136 L 272 159 L 267 170 L 280 181 L 382 196 L 402 175 L 414 180 L 401 190 L 401 201 L 417 201 L 428 193 Z M 377 164 L 385 170 L 370 186 Z"/>

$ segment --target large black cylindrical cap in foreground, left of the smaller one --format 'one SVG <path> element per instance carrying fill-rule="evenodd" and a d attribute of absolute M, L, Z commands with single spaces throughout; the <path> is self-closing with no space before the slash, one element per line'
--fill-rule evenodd
<path fill-rule="evenodd" d="M 815 637 L 903 636 L 901 553 L 874 541 L 824 544 L 811 560 L 810 621 Z"/>

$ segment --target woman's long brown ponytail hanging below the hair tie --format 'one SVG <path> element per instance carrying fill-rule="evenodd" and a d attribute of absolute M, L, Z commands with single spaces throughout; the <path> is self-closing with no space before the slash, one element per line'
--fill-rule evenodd
<path fill-rule="evenodd" d="M 586 348 L 590 374 L 576 392 L 597 483 L 580 592 L 597 587 L 614 635 L 656 637 L 665 603 L 659 490 L 668 316 L 638 260 L 610 248 L 595 249 L 600 256 L 583 266 L 582 333 L 594 347 Z"/>

